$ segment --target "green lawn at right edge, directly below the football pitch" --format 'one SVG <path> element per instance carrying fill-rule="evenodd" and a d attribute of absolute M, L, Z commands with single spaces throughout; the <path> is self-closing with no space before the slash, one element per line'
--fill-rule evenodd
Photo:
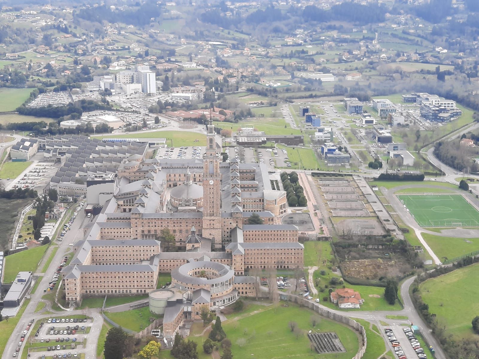
<path fill-rule="evenodd" d="M 479 238 L 442 237 L 429 233 L 423 233 L 422 238 L 439 259 L 462 257 L 479 250 Z"/>

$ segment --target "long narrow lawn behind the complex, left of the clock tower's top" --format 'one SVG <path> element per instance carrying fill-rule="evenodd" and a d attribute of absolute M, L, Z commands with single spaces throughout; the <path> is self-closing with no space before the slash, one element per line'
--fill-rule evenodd
<path fill-rule="evenodd" d="M 166 138 L 167 146 L 206 146 L 206 135 L 191 131 L 152 131 L 126 135 L 101 135 L 92 138 Z"/>

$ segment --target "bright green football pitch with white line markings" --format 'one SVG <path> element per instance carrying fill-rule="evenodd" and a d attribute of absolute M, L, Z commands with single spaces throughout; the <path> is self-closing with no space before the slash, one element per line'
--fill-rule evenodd
<path fill-rule="evenodd" d="M 479 212 L 459 194 L 425 193 L 398 198 L 421 227 L 479 226 Z"/>

